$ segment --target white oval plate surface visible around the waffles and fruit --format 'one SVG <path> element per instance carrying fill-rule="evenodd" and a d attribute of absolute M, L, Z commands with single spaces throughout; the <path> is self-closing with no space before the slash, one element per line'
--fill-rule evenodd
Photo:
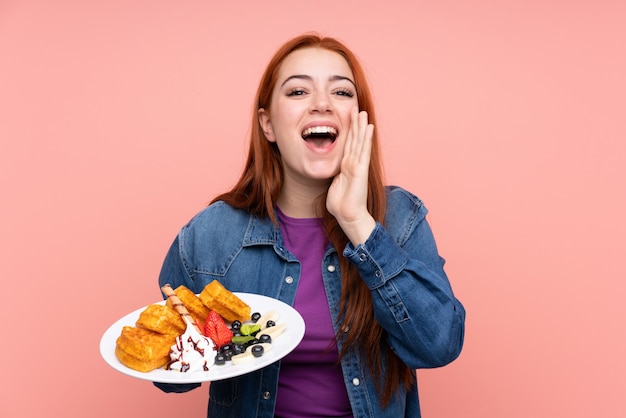
<path fill-rule="evenodd" d="M 251 312 L 259 312 L 263 315 L 270 310 L 275 310 L 280 314 L 276 323 L 285 324 L 285 331 L 272 341 L 272 349 L 265 352 L 263 356 L 255 358 L 253 361 L 237 366 L 233 365 L 231 362 L 226 362 L 223 366 L 210 366 L 207 372 L 197 371 L 185 373 L 165 370 L 164 368 L 144 373 L 124 366 L 115 356 L 115 341 L 122 333 L 122 328 L 125 325 L 135 326 L 135 322 L 139 318 L 139 314 L 146 308 L 145 306 L 119 319 L 106 330 L 100 340 L 100 354 L 102 358 L 104 358 L 104 361 L 115 370 L 138 379 L 161 383 L 197 383 L 228 379 L 261 369 L 285 357 L 300 344 L 300 341 L 302 341 L 304 337 L 304 319 L 302 319 L 302 316 L 295 309 L 284 302 L 267 296 L 252 293 L 235 294 L 250 305 Z M 163 305 L 165 301 L 157 303 Z"/>

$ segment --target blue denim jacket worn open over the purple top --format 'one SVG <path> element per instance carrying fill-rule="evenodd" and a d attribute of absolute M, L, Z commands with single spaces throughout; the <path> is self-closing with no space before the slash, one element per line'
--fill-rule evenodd
<path fill-rule="evenodd" d="M 427 210 L 416 196 L 388 187 L 384 226 L 368 240 L 343 250 L 372 292 L 377 320 L 389 345 L 411 368 L 433 368 L 461 352 L 465 310 L 443 269 Z M 341 271 L 337 252 L 327 249 L 322 277 L 333 321 L 338 317 Z M 163 264 L 159 284 L 185 285 L 196 293 L 213 279 L 234 292 L 258 293 L 293 305 L 300 263 L 285 249 L 280 228 L 269 219 L 217 202 L 182 228 Z M 335 331 L 340 327 L 336 324 Z M 339 343 L 340 344 L 340 343 Z M 341 361 L 355 417 L 419 417 L 417 385 L 383 409 L 363 356 Z M 280 362 L 210 385 L 210 417 L 272 417 Z M 323 382 L 320 382 L 323 384 Z M 168 392 L 198 385 L 156 384 Z"/>

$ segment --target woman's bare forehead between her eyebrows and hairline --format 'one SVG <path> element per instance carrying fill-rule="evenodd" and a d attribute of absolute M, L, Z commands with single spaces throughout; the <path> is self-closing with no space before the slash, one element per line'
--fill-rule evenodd
<path fill-rule="evenodd" d="M 348 61 L 324 48 L 298 49 L 287 55 L 278 70 L 278 83 L 293 75 L 308 75 L 314 79 L 341 75 L 354 79 Z"/>

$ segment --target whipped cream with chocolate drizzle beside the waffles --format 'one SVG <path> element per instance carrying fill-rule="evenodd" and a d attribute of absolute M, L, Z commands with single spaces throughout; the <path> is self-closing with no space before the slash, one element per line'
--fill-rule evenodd
<path fill-rule="evenodd" d="M 209 370 L 215 362 L 215 344 L 210 338 L 200 334 L 191 324 L 187 325 L 185 333 L 176 337 L 176 344 L 170 348 L 170 362 L 168 370 L 179 372 L 195 372 Z"/>

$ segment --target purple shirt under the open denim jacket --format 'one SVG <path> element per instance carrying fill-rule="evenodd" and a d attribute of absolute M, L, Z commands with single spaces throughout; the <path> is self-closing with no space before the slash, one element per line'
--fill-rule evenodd
<path fill-rule="evenodd" d="M 328 299 L 322 282 L 327 247 L 316 218 L 290 218 L 278 210 L 285 247 L 302 265 L 294 308 L 306 331 L 302 342 L 281 362 L 275 416 L 351 417 L 352 409 L 338 363 Z"/>

